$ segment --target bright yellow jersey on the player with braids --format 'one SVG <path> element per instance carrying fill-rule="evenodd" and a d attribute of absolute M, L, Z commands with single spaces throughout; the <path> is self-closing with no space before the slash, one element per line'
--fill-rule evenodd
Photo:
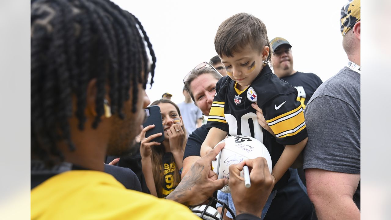
<path fill-rule="evenodd" d="M 126 189 L 91 170 L 60 173 L 31 190 L 31 219 L 198 219 L 177 202 Z"/>

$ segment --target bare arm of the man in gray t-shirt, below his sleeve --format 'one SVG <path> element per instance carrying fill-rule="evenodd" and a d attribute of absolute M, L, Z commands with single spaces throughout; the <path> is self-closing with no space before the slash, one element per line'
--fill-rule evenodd
<path fill-rule="evenodd" d="M 360 174 L 309 168 L 305 170 L 305 179 L 308 196 L 319 219 L 360 219 L 360 211 L 353 202 Z"/>

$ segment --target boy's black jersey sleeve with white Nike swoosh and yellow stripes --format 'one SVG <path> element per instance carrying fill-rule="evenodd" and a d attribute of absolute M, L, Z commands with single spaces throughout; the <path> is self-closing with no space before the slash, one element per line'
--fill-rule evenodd
<path fill-rule="evenodd" d="M 262 111 L 278 143 L 298 144 L 307 137 L 303 107 L 297 101 L 296 93 L 271 99 L 263 106 Z"/>

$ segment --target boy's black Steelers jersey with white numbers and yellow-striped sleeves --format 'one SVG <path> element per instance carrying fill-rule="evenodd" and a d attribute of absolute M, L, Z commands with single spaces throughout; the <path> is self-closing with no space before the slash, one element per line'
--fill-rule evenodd
<path fill-rule="evenodd" d="M 228 135 L 246 135 L 264 142 L 262 127 L 251 103 L 262 109 L 265 120 L 280 144 L 298 144 L 307 137 L 303 108 L 297 90 L 273 74 L 265 65 L 244 91 L 228 76 L 216 84 L 216 96 L 208 116 L 208 128 L 219 128 Z M 264 145 L 267 145 L 264 142 Z"/>

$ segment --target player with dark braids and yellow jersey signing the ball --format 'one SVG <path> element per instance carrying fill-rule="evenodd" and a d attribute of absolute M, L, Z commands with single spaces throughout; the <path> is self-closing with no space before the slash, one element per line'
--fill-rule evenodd
<path fill-rule="evenodd" d="M 127 190 L 103 172 L 106 153 L 131 150 L 150 103 L 156 58 L 138 19 L 109 0 L 33 0 L 30 19 L 31 219 L 198 219 L 186 206 L 227 184 L 210 170 L 224 144 L 195 162 L 167 199 Z M 273 181 L 264 159 L 231 172 L 244 165 L 256 178 L 251 190 L 231 179 L 243 199 L 237 219 L 259 219 L 264 201 L 251 195 L 267 197 Z"/>

